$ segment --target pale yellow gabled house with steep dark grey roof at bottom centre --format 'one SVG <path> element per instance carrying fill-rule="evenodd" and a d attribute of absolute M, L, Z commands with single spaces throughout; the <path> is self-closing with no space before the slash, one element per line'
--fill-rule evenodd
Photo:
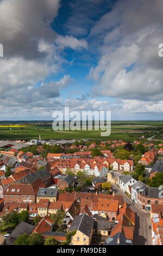
<path fill-rule="evenodd" d="M 71 245 L 90 245 L 93 236 L 94 220 L 86 214 L 76 216 L 68 232 L 76 231 L 71 238 Z"/>

